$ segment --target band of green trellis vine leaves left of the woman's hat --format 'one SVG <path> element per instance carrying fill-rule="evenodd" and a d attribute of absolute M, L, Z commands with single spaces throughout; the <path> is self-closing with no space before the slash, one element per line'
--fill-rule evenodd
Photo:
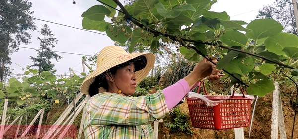
<path fill-rule="evenodd" d="M 9 98 L 18 105 L 23 105 L 32 98 L 48 100 L 57 99 L 61 95 L 73 98 L 85 79 L 77 75 L 61 76 L 57 79 L 49 71 L 38 74 L 38 70 L 35 69 L 27 69 L 26 73 L 31 75 L 24 76 L 21 82 L 16 78 L 10 78 L 7 86 L 0 88 L 0 99 Z"/>

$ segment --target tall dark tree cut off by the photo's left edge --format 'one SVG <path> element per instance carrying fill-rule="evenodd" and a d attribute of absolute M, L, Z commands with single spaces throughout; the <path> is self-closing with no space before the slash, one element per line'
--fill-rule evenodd
<path fill-rule="evenodd" d="M 0 9 L 31 17 L 31 5 L 27 0 L 1 0 Z M 35 29 L 31 18 L 0 12 L 0 81 L 11 73 L 10 55 L 18 50 L 16 46 L 30 43 L 31 35 L 27 31 Z"/>

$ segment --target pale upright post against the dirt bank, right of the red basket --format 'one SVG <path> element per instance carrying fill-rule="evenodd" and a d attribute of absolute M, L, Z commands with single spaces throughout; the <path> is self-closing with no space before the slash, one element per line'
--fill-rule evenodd
<path fill-rule="evenodd" d="M 272 115 L 271 115 L 271 139 L 278 139 L 278 93 L 279 86 L 278 83 L 274 83 L 275 90 L 273 91 L 272 98 Z"/>

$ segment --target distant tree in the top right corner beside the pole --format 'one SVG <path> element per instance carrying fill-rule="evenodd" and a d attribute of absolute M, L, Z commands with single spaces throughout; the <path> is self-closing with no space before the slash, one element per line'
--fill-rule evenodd
<path fill-rule="evenodd" d="M 293 4 L 290 0 L 276 0 L 274 4 L 259 10 L 257 18 L 274 19 L 281 23 L 285 32 L 297 35 Z"/>

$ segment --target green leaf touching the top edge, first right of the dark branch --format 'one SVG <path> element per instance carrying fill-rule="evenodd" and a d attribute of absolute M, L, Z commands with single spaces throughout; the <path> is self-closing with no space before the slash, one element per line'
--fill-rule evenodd
<path fill-rule="evenodd" d="M 138 15 L 142 12 L 151 12 L 154 4 L 156 4 L 158 0 L 137 0 L 135 4 L 134 15 Z"/>

